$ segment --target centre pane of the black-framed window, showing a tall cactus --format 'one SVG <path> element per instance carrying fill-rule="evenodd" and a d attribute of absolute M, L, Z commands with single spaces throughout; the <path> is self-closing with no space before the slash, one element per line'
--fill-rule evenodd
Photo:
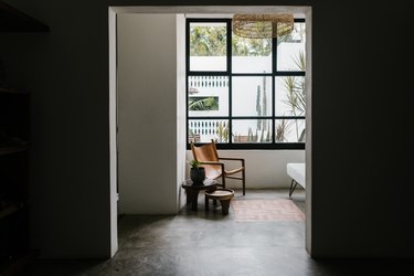
<path fill-rule="evenodd" d="M 272 77 L 236 76 L 232 81 L 234 116 L 272 115 Z"/>

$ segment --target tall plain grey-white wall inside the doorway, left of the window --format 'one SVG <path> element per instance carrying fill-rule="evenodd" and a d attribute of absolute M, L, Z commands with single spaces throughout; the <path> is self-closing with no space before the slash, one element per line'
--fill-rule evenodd
<path fill-rule="evenodd" d="M 177 213 L 176 14 L 118 14 L 119 213 Z"/>

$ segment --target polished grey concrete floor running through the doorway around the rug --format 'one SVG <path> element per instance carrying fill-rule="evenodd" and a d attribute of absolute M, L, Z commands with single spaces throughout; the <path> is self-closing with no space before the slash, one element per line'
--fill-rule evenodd
<path fill-rule="evenodd" d="M 236 199 L 288 199 L 288 190 L 247 190 Z M 305 211 L 305 192 L 291 199 Z M 240 222 L 230 208 L 182 208 L 178 215 L 119 217 L 119 251 L 107 261 L 33 263 L 23 275 L 414 275 L 404 261 L 315 261 L 305 250 L 305 225 L 294 222 Z M 405 273 L 404 269 L 411 268 Z"/>

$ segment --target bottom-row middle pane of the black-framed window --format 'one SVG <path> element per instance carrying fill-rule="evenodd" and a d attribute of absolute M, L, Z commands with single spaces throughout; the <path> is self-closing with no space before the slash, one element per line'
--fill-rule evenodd
<path fill-rule="evenodd" d="M 233 120 L 233 142 L 272 142 L 272 120 Z"/>

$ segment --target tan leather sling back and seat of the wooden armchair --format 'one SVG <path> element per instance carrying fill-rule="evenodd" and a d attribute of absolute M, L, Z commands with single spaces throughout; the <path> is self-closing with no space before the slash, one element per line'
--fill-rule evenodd
<path fill-rule="evenodd" d="M 219 153 L 217 149 L 215 148 L 214 140 L 211 140 L 210 144 L 195 146 L 191 142 L 191 151 L 194 160 L 203 162 L 217 162 L 219 161 Z M 205 168 L 205 177 L 210 179 L 215 179 L 222 174 L 221 166 L 220 164 L 203 164 Z"/>

